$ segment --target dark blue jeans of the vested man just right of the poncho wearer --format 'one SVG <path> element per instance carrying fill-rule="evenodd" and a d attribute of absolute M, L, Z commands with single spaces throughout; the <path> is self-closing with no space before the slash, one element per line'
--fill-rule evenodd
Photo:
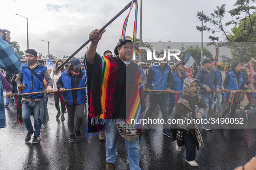
<path fill-rule="evenodd" d="M 144 119 L 148 120 L 150 119 L 152 113 L 155 111 L 157 105 L 160 106 L 163 120 L 165 120 L 165 123 L 168 122 L 169 119 L 169 99 L 168 95 L 149 95 L 149 109 L 147 110 Z M 164 129 L 169 129 L 170 125 L 168 123 L 163 124 Z"/>

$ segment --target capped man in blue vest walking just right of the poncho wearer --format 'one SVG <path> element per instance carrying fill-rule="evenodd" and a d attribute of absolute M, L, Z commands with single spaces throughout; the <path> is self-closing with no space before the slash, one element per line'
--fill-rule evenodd
<path fill-rule="evenodd" d="M 164 56 L 164 52 L 161 52 L 157 55 L 159 58 L 159 66 L 153 65 L 149 68 L 148 77 L 147 77 L 147 89 L 149 93 L 151 90 L 165 90 L 167 93 L 172 91 L 173 85 L 173 76 L 170 71 L 170 67 L 166 62 L 166 57 Z M 165 57 L 164 60 L 162 58 Z M 162 118 L 164 120 L 163 124 L 163 135 L 167 135 L 169 138 L 172 138 L 172 133 L 169 130 L 169 100 L 168 95 L 165 94 L 151 94 L 149 95 L 149 109 L 147 110 L 144 119 L 149 120 L 153 111 L 156 109 L 157 105 L 159 104 Z M 149 121 L 150 122 L 150 121 Z M 145 124 L 146 129 L 151 129 L 149 122 Z M 150 122 L 151 123 L 151 122 Z"/>

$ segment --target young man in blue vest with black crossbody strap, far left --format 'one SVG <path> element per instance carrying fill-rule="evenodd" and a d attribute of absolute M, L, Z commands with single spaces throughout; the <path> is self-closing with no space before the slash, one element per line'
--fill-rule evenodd
<path fill-rule="evenodd" d="M 22 65 L 22 69 L 18 74 L 17 88 L 19 93 L 32 93 L 44 91 L 45 78 L 48 87 L 45 89 L 45 93 L 49 94 L 52 91 L 52 79 L 46 70 L 46 67 L 42 65 L 37 59 L 37 52 L 34 49 L 27 49 L 26 63 Z M 38 94 L 36 96 L 25 95 L 22 98 L 22 117 L 23 122 L 28 130 L 25 138 L 25 142 L 29 142 L 32 134 L 34 138 L 32 144 L 38 143 L 40 139 L 42 124 L 46 124 L 49 120 L 48 111 L 45 105 L 44 94 Z M 43 110 L 42 110 L 43 108 Z M 34 128 L 30 120 L 31 113 L 34 117 Z M 42 114 L 43 113 L 43 114 Z M 43 115 L 43 117 L 42 117 Z"/>

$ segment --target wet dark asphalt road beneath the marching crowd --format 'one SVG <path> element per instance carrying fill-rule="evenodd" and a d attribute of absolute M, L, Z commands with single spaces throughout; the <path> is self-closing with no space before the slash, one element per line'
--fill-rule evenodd
<path fill-rule="evenodd" d="M 52 94 L 49 94 L 48 101 L 50 120 L 47 125 L 42 125 L 41 141 L 38 144 L 24 142 L 27 130 L 24 125 L 17 125 L 16 107 L 12 99 L 5 110 L 7 128 L 0 129 L 0 170 L 105 169 L 105 142 L 100 141 L 98 136 L 92 136 L 70 143 L 68 117 L 65 116 L 65 121 L 55 119 L 57 111 Z M 153 113 L 155 117 L 161 115 Z M 214 116 L 214 112 L 210 111 L 209 116 Z M 237 112 L 236 116 L 245 118 L 244 110 Z M 31 120 L 33 124 L 32 116 Z M 85 131 L 86 120 L 85 113 L 81 132 Z M 252 116 L 251 121 L 255 123 L 256 116 Z M 247 121 L 245 124 L 248 125 Z M 210 132 L 201 129 L 201 135 L 204 147 L 197 151 L 195 159 L 199 166 L 191 167 L 185 163 L 185 147 L 178 153 L 175 142 L 163 136 L 162 129 L 143 129 L 140 167 L 143 170 L 233 170 L 250 161 L 256 154 L 256 129 L 213 129 Z M 120 137 L 115 169 L 129 169 L 127 158 L 124 139 Z"/>

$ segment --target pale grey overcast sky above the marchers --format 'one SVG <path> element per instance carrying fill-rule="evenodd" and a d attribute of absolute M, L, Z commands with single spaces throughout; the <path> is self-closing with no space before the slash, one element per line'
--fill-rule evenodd
<path fill-rule="evenodd" d="M 17 41 L 21 50 L 27 48 L 26 19 L 29 25 L 29 48 L 47 55 L 63 56 L 73 54 L 88 39 L 89 33 L 100 29 L 113 18 L 130 0 L 1 0 L 0 28 L 11 31 L 11 41 Z M 142 40 L 145 42 L 201 42 L 201 32 L 196 30 L 201 22 L 198 11 L 210 15 L 226 3 L 227 11 L 233 9 L 235 0 L 143 0 Z M 139 0 L 140 13 L 140 0 Z M 126 35 L 133 35 L 134 10 L 132 10 Z M 14 15 L 15 13 L 21 15 Z M 113 51 L 120 38 L 123 22 L 129 10 L 106 28 L 97 52 Z M 226 14 L 226 21 L 231 19 Z M 139 38 L 139 18 L 137 38 Z M 208 42 L 204 32 L 204 42 Z M 206 43 L 205 43 L 206 44 Z M 89 44 L 87 45 L 89 46 Z M 164 44 L 163 44 L 164 46 Z M 84 47 L 77 55 L 84 55 Z M 215 55 L 215 54 L 214 54 Z M 221 51 L 220 51 L 220 54 Z"/>

